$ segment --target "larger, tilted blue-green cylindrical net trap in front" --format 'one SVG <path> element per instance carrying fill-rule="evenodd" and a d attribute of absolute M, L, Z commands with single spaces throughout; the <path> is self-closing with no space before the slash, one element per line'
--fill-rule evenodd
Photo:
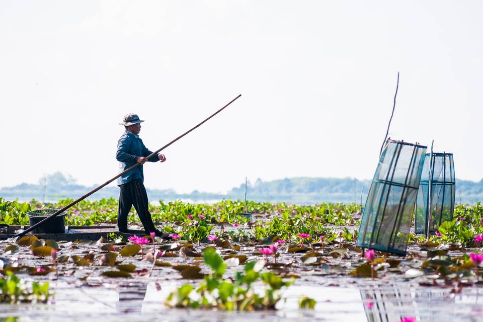
<path fill-rule="evenodd" d="M 357 246 L 406 255 L 426 146 L 387 140 L 362 213 Z"/>

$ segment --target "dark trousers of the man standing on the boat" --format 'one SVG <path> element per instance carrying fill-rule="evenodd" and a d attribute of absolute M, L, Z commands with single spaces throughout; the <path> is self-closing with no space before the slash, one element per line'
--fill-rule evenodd
<path fill-rule="evenodd" d="M 155 228 L 149 213 L 146 189 L 142 180 L 135 179 L 119 187 L 121 188 L 117 212 L 119 231 L 127 232 L 127 216 L 134 205 L 146 233 L 153 232 Z"/>

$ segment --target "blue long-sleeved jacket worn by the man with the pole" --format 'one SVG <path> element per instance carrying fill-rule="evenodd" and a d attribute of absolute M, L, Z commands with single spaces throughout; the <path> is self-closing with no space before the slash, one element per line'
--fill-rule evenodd
<path fill-rule="evenodd" d="M 119 141 L 117 142 L 116 159 L 119 161 L 119 173 L 135 165 L 138 156 L 148 156 L 151 153 L 152 152 L 144 146 L 139 135 L 129 131 L 124 131 L 124 134 L 121 135 Z M 158 160 L 157 155 L 154 155 L 148 159 L 149 162 L 156 162 Z M 117 185 L 123 185 L 134 179 L 144 180 L 142 165 L 137 166 L 136 168 L 117 178 Z"/>

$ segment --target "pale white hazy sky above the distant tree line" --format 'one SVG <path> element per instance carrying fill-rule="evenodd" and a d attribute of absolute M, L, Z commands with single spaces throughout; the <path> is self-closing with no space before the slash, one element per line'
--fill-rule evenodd
<path fill-rule="evenodd" d="M 480 1 L 0 1 L 0 187 L 117 174 L 126 113 L 155 150 L 148 188 L 248 176 L 371 179 L 390 137 L 454 153 L 479 181 Z"/>

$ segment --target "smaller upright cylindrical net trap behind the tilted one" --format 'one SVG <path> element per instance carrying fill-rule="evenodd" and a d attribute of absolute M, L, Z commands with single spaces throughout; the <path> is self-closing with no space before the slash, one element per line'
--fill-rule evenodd
<path fill-rule="evenodd" d="M 427 234 L 428 229 L 434 233 L 443 221 L 453 220 L 455 192 L 453 153 L 433 153 L 432 157 L 427 153 L 416 202 L 416 233 Z"/>

